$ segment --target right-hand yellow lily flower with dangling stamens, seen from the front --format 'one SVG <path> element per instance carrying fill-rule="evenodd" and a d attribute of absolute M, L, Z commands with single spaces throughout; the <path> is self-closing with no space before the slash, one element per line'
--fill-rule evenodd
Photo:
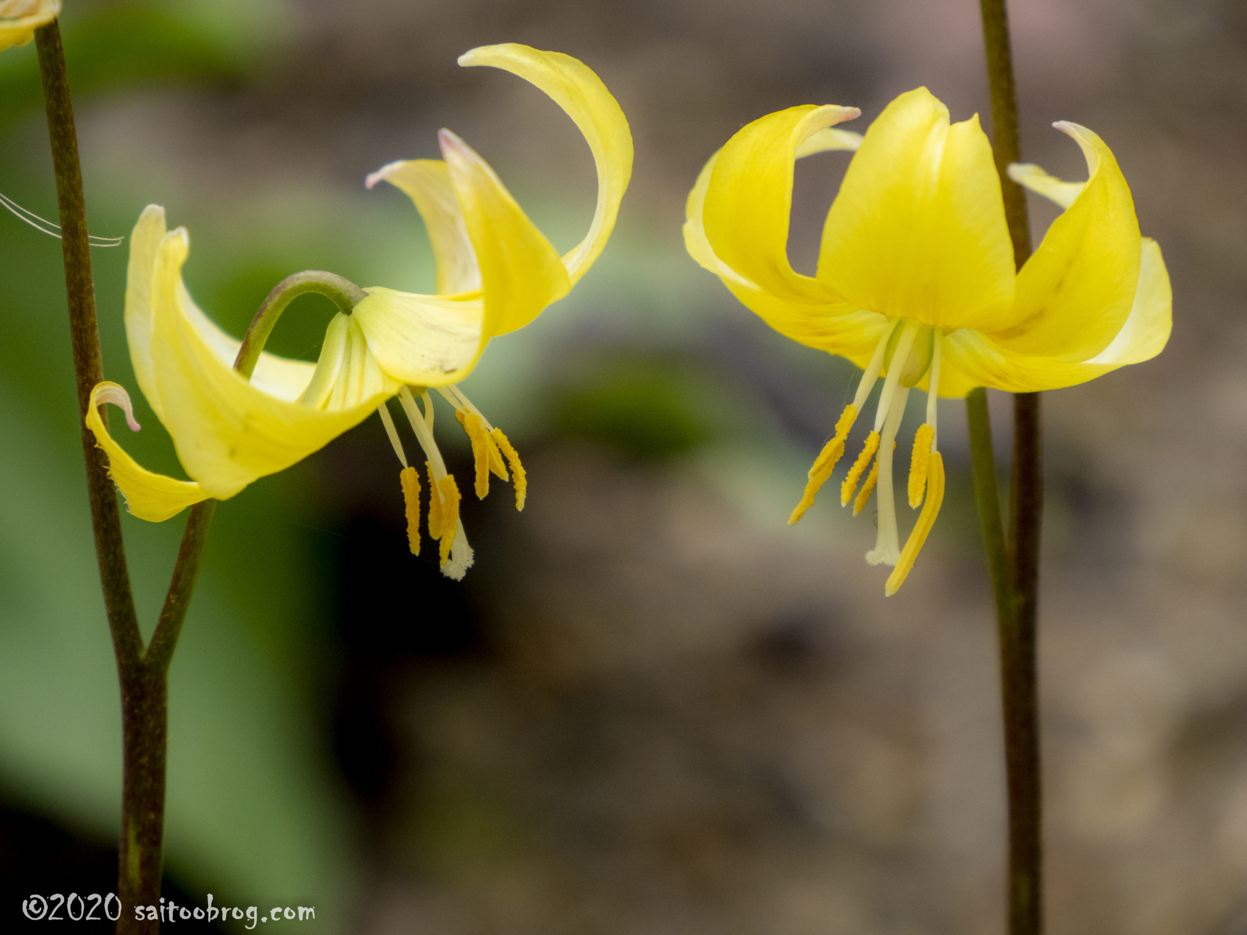
<path fill-rule="evenodd" d="M 1172 297 L 1160 247 L 1140 237 L 1126 180 L 1090 130 L 1054 125 L 1081 147 L 1086 182 L 1010 167 L 1016 182 L 1065 208 L 1015 272 L 1000 181 L 978 115 L 950 125 L 948 108 L 920 87 L 888 105 L 864 137 L 833 128 L 858 115 L 854 107 L 811 105 L 746 126 L 711 157 L 690 193 L 685 243 L 772 328 L 864 370 L 789 524 L 813 505 L 870 390 L 884 379 L 873 430 L 840 502 L 852 501 L 858 514 L 878 490 L 878 539 L 867 561 L 894 566 L 885 586 L 892 595 L 944 495 L 936 396 L 961 398 L 976 386 L 1057 389 L 1147 360 L 1168 340 Z M 823 228 L 817 274 L 803 276 L 787 254 L 793 166 L 828 150 L 855 152 Z M 900 549 L 893 449 L 915 386 L 928 394 L 927 421 L 914 439 L 908 492 L 910 506 L 923 511 Z"/>

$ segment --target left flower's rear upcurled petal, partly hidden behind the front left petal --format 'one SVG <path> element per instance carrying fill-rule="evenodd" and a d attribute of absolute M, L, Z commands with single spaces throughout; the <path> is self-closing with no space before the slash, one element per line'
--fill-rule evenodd
<path fill-rule="evenodd" d="M 148 204 L 130 234 L 130 267 L 126 274 L 126 340 L 130 344 L 130 360 L 138 379 L 138 388 L 162 421 L 163 408 L 152 376 L 151 339 L 152 277 L 156 272 L 156 253 L 165 234 L 165 208 Z M 227 367 L 233 367 L 241 342 L 231 338 L 203 314 L 181 282 L 178 293 L 187 320 L 200 332 L 217 358 Z M 264 393 L 293 403 L 312 379 L 314 369 L 315 365 L 306 360 L 291 360 L 266 352 L 259 355 L 251 381 Z"/>

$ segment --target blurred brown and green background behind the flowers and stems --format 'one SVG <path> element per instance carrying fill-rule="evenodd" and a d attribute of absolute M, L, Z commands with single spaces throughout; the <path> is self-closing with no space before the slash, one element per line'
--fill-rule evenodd
<path fill-rule="evenodd" d="M 1114 148 L 1173 280 L 1158 359 L 1047 394 L 1041 687 L 1050 930 L 1247 933 L 1247 14 L 1237 0 L 1015 0 L 1026 158 L 1081 178 L 1055 120 Z M 1004 924 L 994 620 L 965 449 L 903 591 L 826 496 L 784 525 L 853 368 L 771 333 L 686 254 L 683 199 L 746 122 L 928 85 L 990 113 L 973 0 L 66 0 L 91 232 L 148 202 L 241 334 L 299 269 L 431 290 L 398 191 L 450 127 L 560 249 L 592 162 L 540 92 L 455 59 L 582 59 L 636 138 L 619 227 L 576 290 L 465 391 L 529 505 L 464 506 L 476 566 L 405 546 L 378 420 L 217 514 L 172 669 L 168 893 L 314 905 L 309 930 L 436 935 L 989 935 Z M 798 168 L 813 271 L 843 153 Z M 0 57 L 0 191 L 55 217 L 34 49 Z M 1054 216 L 1033 203 L 1035 234 Z M 94 252 L 106 374 L 177 471 L 122 329 L 126 247 Z M 91 549 L 60 246 L 0 214 L 0 918 L 106 893 L 116 676 Z M 328 303 L 269 348 L 314 359 Z M 919 421 L 912 404 L 910 419 Z M 1001 471 L 1008 399 L 993 396 Z M 439 441 L 460 486 L 466 444 Z M 449 429 L 451 430 L 448 430 Z M 912 431 L 910 426 L 903 434 Z M 850 448 L 852 448 L 850 443 Z M 182 520 L 126 516 L 155 617 Z M 302 929 L 302 926 L 301 926 Z"/>

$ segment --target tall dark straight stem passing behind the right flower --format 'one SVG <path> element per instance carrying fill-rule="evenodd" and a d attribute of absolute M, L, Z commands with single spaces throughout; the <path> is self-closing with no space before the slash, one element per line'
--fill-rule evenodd
<path fill-rule="evenodd" d="M 1021 158 L 1009 17 L 1005 0 L 980 0 L 980 6 L 991 90 L 993 151 L 1004 193 L 1014 261 L 1021 268 L 1030 257 L 1030 232 L 1025 192 L 1006 172 L 1010 162 Z M 1008 551 L 1013 587 L 1010 612 L 1001 612 L 998 595 L 1005 760 L 1009 773 L 1011 935 L 1038 935 L 1044 926 L 1039 679 L 1035 658 L 1040 514 L 1044 497 L 1041 454 L 1039 394 L 1019 393 L 1014 396 L 1014 458 L 1009 489 Z"/>

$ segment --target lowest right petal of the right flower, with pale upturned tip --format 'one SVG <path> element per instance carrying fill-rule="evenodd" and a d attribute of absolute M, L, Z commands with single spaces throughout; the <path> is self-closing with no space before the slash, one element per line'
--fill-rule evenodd
<path fill-rule="evenodd" d="M 1086 383 L 1163 350 L 1173 323 L 1168 272 L 1156 241 L 1143 238 L 1139 289 L 1126 323 L 1102 352 L 1087 360 L 1019 354 L 975 332 L 954 332 L 944 340 L 941 396 L 964 396 L 975 386 L 1034 393 Z"/>

